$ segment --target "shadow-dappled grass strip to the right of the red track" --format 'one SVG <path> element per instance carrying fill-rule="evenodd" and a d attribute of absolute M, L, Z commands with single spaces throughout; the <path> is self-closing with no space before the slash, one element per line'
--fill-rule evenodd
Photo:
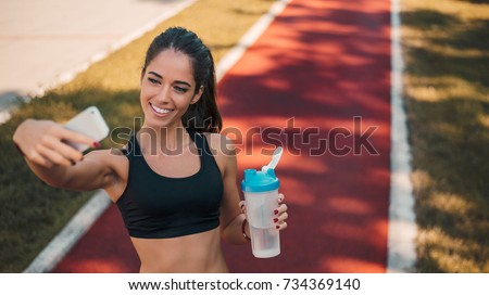
<path fill-rule="evenodd" d="M 419 272 L 489 272 L 487 2 L 401 0 Z"/>

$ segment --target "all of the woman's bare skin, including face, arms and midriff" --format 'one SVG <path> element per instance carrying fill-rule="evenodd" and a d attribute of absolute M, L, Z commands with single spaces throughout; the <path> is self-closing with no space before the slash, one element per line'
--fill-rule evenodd
<path fill-rule="evenodd" d="M 203 88 L 196 91 L 196 87 L 190 59 L 173 49 L 160 52 L 141 76 L 140 103 L 145 121 L 137 140 L 146 162 L 156 174 L 181 178 L 200 169 L 197 148 L 189 134 L 181 131 L 181 116 L 203 92 Z M 146 132 L 148 130 L 153 131 Z M 221 239 L 231 244 L 248 243 L 241 233 L 246 207 L 236 185 L 236 154 L 224 136 L 205 133 L 205 137 L 215 151 L 214 158 L 223 177 L 221 226 L 173 239 L 130 238 L 141 260 L 141 272 L 227 272 Z M 29 167 L 48 184 L 79 191 L 104 189 L 110 198 L 117 202 L 127 185 L 127 157 L 117 150 L 97 150 L 83 157 L 66 145 L 65 140 L 96 145 L 91 139 L 47 120 L 26 120 L 14 134 L 14 142 L 25 153 Z M 151 145 L 154 143 L 155 153 Z M 176 149 L 181 153 L 166 153 Z M 283 201 L 280 194 L 279 202 Z M 287 228 L 287 206 L 277 204 L 279 230 Z M 250 235 L 248 228 L 246 232 Z"/>

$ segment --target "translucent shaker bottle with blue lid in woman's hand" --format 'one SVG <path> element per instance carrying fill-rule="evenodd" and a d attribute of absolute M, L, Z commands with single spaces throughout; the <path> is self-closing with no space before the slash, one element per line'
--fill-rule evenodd
<path fill-rule="evenodd" d="M 280 254 L 279 231 L 274 223 L 279 185 L 273 168 L 265 166 L 261 171 L 244 170 L 241 190 L 247 206 L 251 248 L 256 258 L 269 258 Z"/>

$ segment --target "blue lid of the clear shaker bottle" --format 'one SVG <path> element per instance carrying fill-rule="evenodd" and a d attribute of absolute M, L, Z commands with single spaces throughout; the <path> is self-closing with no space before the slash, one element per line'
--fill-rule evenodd
<path fill-rule="evenodd" d="M 266 172 L 256 171 L 255 169 L 246 169 L 244 179 L 241 181 L 241 190 L 243 192 L 268 192 L 277 190 L 280 181 L 275 176 L 274 169 L 267 169 Z"/>

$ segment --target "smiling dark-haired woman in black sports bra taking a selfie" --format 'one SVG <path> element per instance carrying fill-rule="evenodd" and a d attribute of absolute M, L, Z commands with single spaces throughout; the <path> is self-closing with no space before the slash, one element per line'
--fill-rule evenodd
<path fill-rule="evenodd" d="M 142 128 L 122 151 L 83 156 L 65 142 L 90 138 L 48 120 L 14 133 L 32 170 L 57 188 L 103 189 L 121 209 L 141 272 L 227 272 L 221 238 L 249 241 L 236 185 L 236 154 L 218 131 L 214 62 L 192 31 L 170 28 L 148 49 L 141 70 Z M 279 195 L 279 203 L 284 195 Z M 274 211 L 287 228 L 287 206 Z"/>

